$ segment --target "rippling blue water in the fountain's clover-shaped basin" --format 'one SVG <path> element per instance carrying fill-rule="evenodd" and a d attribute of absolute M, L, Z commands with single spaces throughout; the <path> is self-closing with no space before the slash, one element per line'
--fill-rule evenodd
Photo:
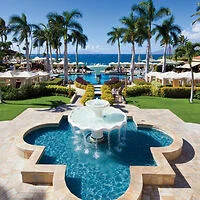
<path fill-rule="evenodd" d="M 118 133 L 112 131 L 110 152 L 108 142 L 97 147 L 84 143 L 83 134 L 72 133 L 67 118 L 57 127 L 40 128 L 24 138 L 29 144 L 46 146 L 39 163 L 67 165 L 66 184 L 83 200 L 117 199 L 129 187 L 129 166 L 156 165 L 150 147 L 167 146 L 173 141 L 156 129 L 136 129 L 132 120 L 127 121 L 126 131 L 121 130 L 120 150 L 118 139 Z"/>

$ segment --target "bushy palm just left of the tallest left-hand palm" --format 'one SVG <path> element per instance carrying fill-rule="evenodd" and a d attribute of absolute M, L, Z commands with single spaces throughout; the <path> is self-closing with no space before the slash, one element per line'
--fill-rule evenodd
<path fill-rule="evenodd" d="M 50 72 L 51 67 L 49 61 L 49 51 L 52 33 L 48 25 L 42 23 L 40 23 L 39 25 L 40 26 L 33 32 L 34 46 L 36 44 L 43 46 L 43 44 L 46 43 L 46 71 Z"/>

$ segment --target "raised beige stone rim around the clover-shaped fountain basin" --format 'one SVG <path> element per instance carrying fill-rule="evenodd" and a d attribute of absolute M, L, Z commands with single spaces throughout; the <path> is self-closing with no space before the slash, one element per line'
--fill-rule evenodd
<path fill-rule="evenodd" d="M 139 111 L 139 110 L 138 110 Z M 168 111 L 167 111 L 168 112 Z M 166 111 L 165 111 L 166 113 Z M 170 112 L 171 113 L 171 112 Z M 167 113 L 167 114 L 170 114 Z M 29 123 L 28 126 L 21 127 L 15 137 L 16 149 L 18 155 L 28 159 L 28 162 L 22 170 L 22 181 L 32 184 L 52 185 L 54 194 L 57 199 L 79 199 L 73 195 L 66 187 L 65 183 L 65 165 L 42 165 L 36 164 L 40 159 L 44 148 L 43 146 L 34 146 L 24 142 L 23 136 L 29 131 L 46 125 L 58 125 L 63 116 L 69 113 L 60 113 L 54 119 L 38 121 L 37 123 Z M 159 123 L 159 120 L 148 119 L 147 116 L 137 116 L 134 113 L 127 114 L 133 117 L 138 126 L 151 126 L 170 135 L 174 142 L 167 147 L 151 147 L 152 155 L 157 166 L 131 166 L 131 180 L 127 191 L 118 199 L 141 199 L 143 184 L 149 185 L 173 185 L 175 172 L 169 165 L 167 160 L 176 159 L 182 150 L 183 141 L 176 135 L 173 127 Z M 175 120 L 176 122 L 176 120 Z M 162 128 L 161 128 L 162 125 Z"/>

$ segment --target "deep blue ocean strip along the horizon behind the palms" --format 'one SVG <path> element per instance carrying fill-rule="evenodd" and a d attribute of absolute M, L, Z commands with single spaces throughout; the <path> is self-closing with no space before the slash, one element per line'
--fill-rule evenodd
<path fill-rule="evenodd" d="M 42 57 L 42 55 L 32 54 L 31 58 L 36 56 Z M 53 57 L 55 58 L 55 54 Z M 61 55 L 63 57 L 63 55 Z M 79 54 L 79 62 L 84 62 L 86 65 L 94 65 L 94 64 L 101 64 L 101 65 L 108 65 L 110 62 L 117 62 L 117 54 Z M 139 59 L 138 59 L 139 57 Z M 153 59 L 159 59 L 162 57 L 162 54 L 154 54 Z M 75 62 L 75 54 L 68 54 L 68 58 L 70 62 Z M 146 58 L 145 54 L 136 54 L 135 62 L 139 62 Z M 130 62 L 131 61 L 131 54 L 121 54 L 121 62 Z"/>

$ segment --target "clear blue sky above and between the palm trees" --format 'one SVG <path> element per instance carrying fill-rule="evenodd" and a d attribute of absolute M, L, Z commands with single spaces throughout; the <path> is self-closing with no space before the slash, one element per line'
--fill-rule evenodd
<path fill-rule="evenodd" d="M 70 11 L 78 9 L 83 14 L 79 22 L 83 26 L 84 33 L 89 41 L 86 50 L 82 53 L 117 53 L 117 46 L 107 44 L 107 32 L 111 28 L 121 26 L 119 19 L 128 16 L 131 7 L 139 3 L 139 0 L 6 0 L 1 2 L 0 17 L 8 22 L 13 14 L 25 13 L 30 23 L 46 23 L 46 15 L 49 12 Z M 191 41 L 200 42 L 200 25 L 192 26 L 191 15 L 196 11 L 199 0 L 154 0 L 156 8 L 168 7 L 175 17 L 182 33 Z M 159 22 L 157 22 L 159 23 Z M 130 45 L 122 45 L 122 53 L 130 53 Z M 145 53 L 146 43 L 142 47 L 136 47 L 136 53 Z M 152 40 L 152 51 L 160 50 L 159 42 Z M 74 47 L 69 47 L 69 52 L 74 53 Z"/>

